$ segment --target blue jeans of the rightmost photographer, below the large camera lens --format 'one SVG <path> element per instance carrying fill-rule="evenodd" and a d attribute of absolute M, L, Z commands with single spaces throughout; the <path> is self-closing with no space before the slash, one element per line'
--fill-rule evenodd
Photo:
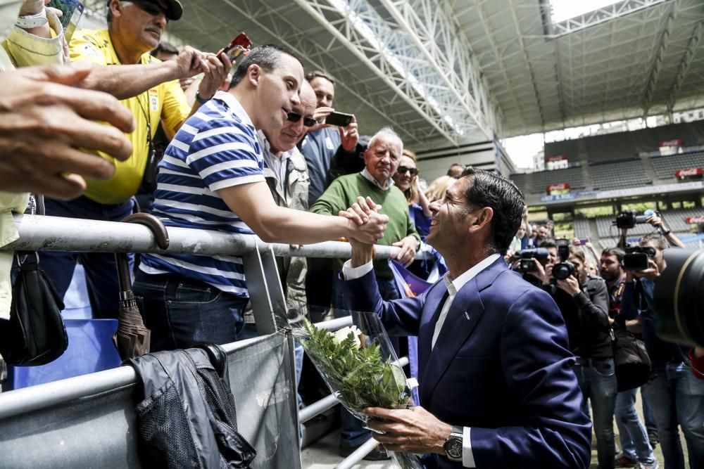
<path fill-rule="evenodd" d="M 704 381 L 695 378 L 684 362 L 653 364 L 653 373 L 645 391 L 658 424 L 665 468 L 684 469 L 677 425 L 687 443 L 689 467 L 704 467 Z"/>

